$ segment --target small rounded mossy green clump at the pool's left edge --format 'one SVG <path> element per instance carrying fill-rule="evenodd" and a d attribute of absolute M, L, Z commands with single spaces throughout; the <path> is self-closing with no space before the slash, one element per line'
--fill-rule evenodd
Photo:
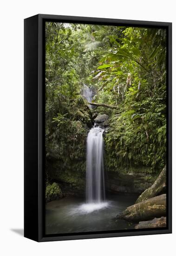
<path fill-rule="evenodd" d="M 62 198 L 62 196 L 63 196 L 62 191 L 56 182 L 53 182 L 52 184 L 48 184 L 46 186 L 46 192 L 45 192 L 46 202 L 57 200 L 59 198 Z"/>

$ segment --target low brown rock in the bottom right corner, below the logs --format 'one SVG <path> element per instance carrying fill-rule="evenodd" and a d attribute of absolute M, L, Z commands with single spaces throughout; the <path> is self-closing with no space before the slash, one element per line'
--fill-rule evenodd
<path fill-rule="evenodd" d="M 139 222 L 135 229 L 151 229 L 151 228 L 165 228 L 166 227 L 166 217 L 154 218 L 150 221 Z"/>

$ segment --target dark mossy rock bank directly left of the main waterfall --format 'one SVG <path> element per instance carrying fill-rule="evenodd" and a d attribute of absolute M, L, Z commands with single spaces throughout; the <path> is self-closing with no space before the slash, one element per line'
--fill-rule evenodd
<path fill-rule="evenodd" d="M 63 193 L 85 188 L 86 138 L 92 125 L 91 110 L 81 96 L 70 106 L 50 123 L 46 136 L 47 181 L 59 182 Z"/>

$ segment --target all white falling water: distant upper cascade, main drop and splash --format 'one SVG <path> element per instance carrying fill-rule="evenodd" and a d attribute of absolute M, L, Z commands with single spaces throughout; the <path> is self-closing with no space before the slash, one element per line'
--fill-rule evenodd
<path fill-rule="evenodd" d="M 90 87 L 84 84 L 82 88 L 82 95 L 88 102 L 91 102 L 93 91 Z M 90 105 L 89 108 L 93 108 L 93 106 Z M 97 209 L 102 209 L 108 205 L 108 202 L 104 201 L 103 132 L 104 129 L 95 124 L 87 136 L 86 203 L 80 208 L 83 212 L 92 212 Z"/>

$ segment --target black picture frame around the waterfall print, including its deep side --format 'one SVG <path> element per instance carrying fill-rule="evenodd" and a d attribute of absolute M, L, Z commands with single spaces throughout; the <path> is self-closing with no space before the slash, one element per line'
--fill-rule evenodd
<path fill-rule="evenodd" d="M 79 234 L 44 234 L 45 22 L 160 27 L 167 30 L 167 227 Z M 24 236 L 38 242 L 172 232 L 172 23 L 38 14 L 24 20 Z"/>

